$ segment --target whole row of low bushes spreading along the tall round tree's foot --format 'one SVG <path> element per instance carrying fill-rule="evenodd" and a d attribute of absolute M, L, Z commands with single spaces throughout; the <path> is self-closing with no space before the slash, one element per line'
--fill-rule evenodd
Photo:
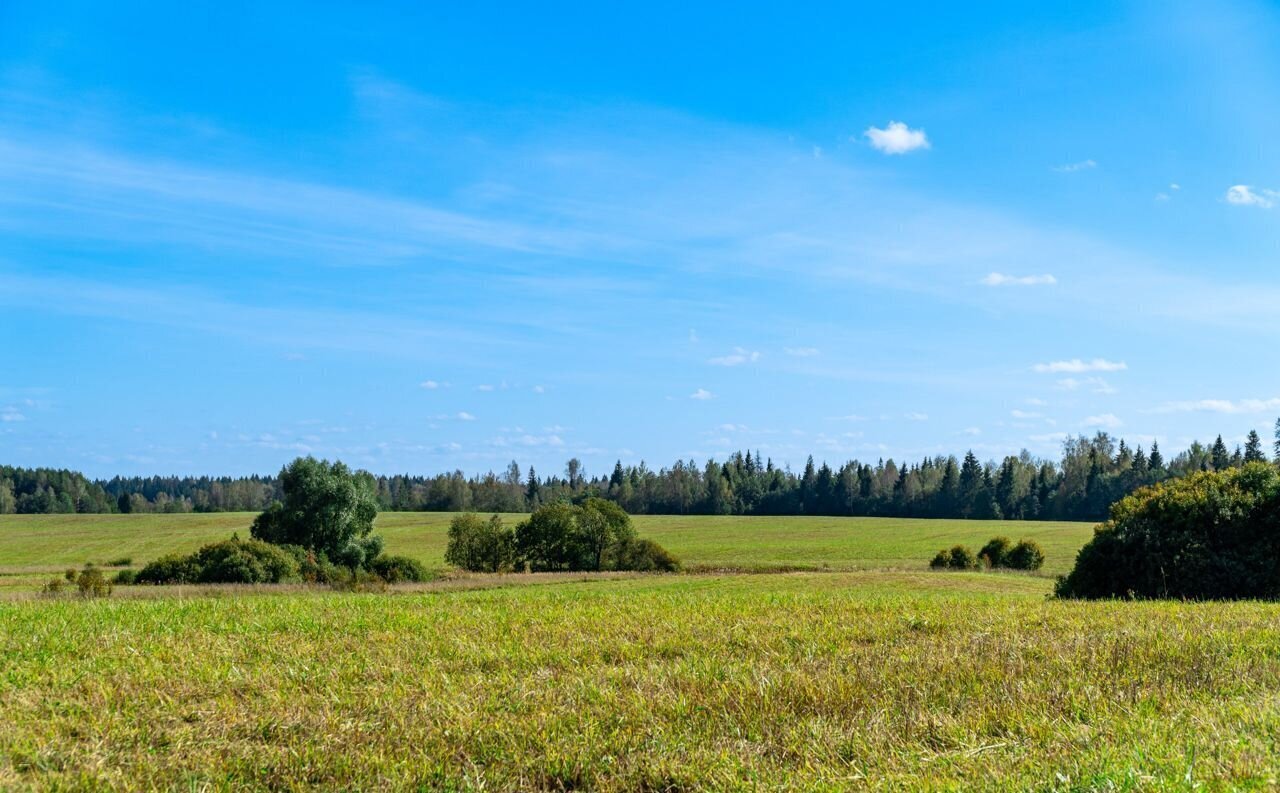
<path fill-rule="evenodd" d="M 379 553 L 365 564 L 352 567 L 335 564 L 323 551 L 310 551 L 298 545 L 271 545 L 233 536 L 230 540 L 206 545 L 195 554 L 161 556 L 132 576 L 129 583 L 346 585 L 358 579 L 361 574 L 387 583 L 430 578 L 430 573 L 416 559 L 381 554 L 381 540 L 376 536 L 364 540 L 376 540 L 376 544 L 365 545 L 370 550 L 376 545 Z"/>

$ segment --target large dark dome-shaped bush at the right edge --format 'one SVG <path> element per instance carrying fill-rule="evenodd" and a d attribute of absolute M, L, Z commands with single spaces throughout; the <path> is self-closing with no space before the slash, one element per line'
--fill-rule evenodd
<path fill-rule="evenodd" d="M 1266 463 L 1147 487 L 1111 508 L 1062 597 L 1276 599 L 1280 476 Z"/>

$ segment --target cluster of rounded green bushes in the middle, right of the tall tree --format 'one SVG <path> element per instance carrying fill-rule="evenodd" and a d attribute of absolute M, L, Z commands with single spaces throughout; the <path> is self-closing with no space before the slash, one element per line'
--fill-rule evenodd
<path fill-rule="evenodd" d="M 636 536 L 631 517 L 613 501 L 540 506 L 511 528 L 499 515 L 463 513 L 449 523 L 444 560 L 465 570 L 673 572 L 680 560 Z"/>

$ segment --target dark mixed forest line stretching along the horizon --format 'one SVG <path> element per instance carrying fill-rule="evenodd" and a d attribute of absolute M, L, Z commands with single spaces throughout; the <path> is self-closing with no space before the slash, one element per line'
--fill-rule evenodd
<path fill-rule="evenodd" d="M 1275 454 L 1280 459 L 1280 421 Z M 512 462 L 500 473 L 467 476 L 374 476 L 367 481 L 379 510 L 534 512 L 544 504 L 614 501 L 630 514 L 881 515 L 1101 521 L 1108 506 L 1146 485 L 1202 471 L 1265 462 L 1257 431 L 1243 448 L 1193 443 L 1171 459 L 1158 444 L 1129 445 L 1106 432 L 1068 437 L 1057 460 L 1028 451 L 979 460 L 969 451 L 914 462 L 849 460 L 838 467 L 810 457 L 800 472 L 774 466 L 760 453 L 724 460 L 676 460 L 654 471 L 645 463 L 616 463 L 589 476 L 577 459 L 541 476 Z M 282 499 L 275 476 L 113 477 L 90 481 L 72 471 L 0 466 L 3 513 L 261 512 Z"/>

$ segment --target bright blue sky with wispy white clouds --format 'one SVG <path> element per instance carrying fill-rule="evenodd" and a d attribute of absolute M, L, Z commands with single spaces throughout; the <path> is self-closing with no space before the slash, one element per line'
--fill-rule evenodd
<path fill-rule="evenodd" d="M 1276 41 L 1234 1 L 0 0 L 0 462 L 1270 439 Z"/>

